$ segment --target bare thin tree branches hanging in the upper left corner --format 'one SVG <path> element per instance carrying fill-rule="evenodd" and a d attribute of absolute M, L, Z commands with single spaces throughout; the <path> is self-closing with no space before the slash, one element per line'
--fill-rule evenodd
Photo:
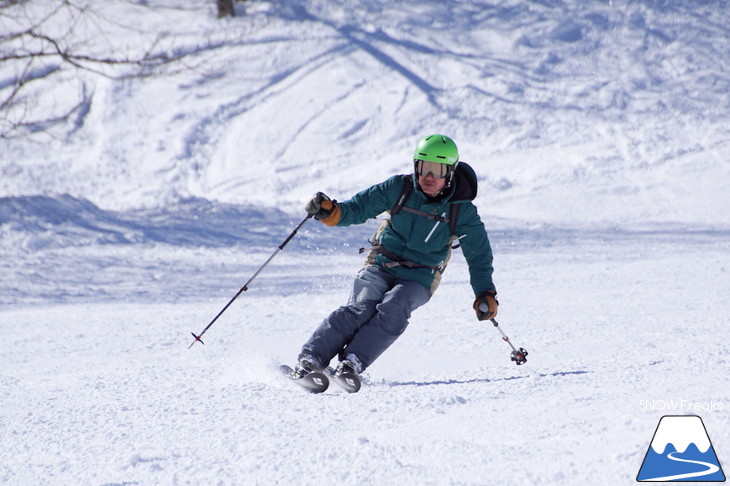
<path fill-rule="evenodd" d="M 116 52 L 124 39 L 110 32 L 134 30 L 136 38 L 140 36 L 136 27 L 104 17 L 93 0 L 58 0 L 46 12 L 39 12 L 42 8 L 30 0 L 0 0 L 0 28 L 18 26 L 0 34 L 0 138 L 44 132 L 71 123 L 82 113 L 91 95 L 86 81 L 72 74 L 74 70 L 113 80 L 175 74 L 191 69 L 185 59 L 222 45 L 175 47 L 163 42 L 170 40 L 164 34 L 143 32 L 154 37 L 141 52 L 131 54 L 128 48 L 129 55 L 108 55 L 104 52 Z M 45 91 L 52 91 L 58 81 L 74 83 L 77 99 L 58 101 L 46 96 Z"/>

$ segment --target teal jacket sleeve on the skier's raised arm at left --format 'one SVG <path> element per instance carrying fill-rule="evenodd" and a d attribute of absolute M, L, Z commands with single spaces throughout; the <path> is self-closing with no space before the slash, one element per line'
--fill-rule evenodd
<path fill-rule="evenodd" d="M 395 205 L 404 182 L 404 176 L 393 176 L 385 182 L 358 192 L 347 201 L 338 203 L 341 214 L 337 226 L 361 224 L 389 210 Z"/>

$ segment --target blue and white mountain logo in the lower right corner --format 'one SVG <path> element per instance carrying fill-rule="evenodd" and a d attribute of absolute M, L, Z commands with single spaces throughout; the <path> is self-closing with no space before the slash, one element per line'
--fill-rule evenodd
<path fill-rule="evenodd" d="M 724 482 L 725 474 L 702 419 L 696 415 L 662 417 L 636 480 Z"/>

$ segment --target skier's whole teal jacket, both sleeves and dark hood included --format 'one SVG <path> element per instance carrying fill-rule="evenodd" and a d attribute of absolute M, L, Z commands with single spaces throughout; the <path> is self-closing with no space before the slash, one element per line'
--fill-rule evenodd
<path fill-rule="evenodd" d="M 376 238 L 391 256 L 439 269 L 406 266 L 386 268 L 386 264 L 393 260 L 374 250 L 368 255 L 366 265 L 377 265 L 397 277 L 416 281 L 433 294 L 441 281 L 441 273 L 449 261 L 451 245 L 456 237 L 459 238 L 462 252 L 469 265 L 474 294 L 478 295 L 487 290 L 496 293 L 492 282 L 494 271 L 492 248 L 477 208 L 472 203 L 477 194 L 476 174 L 463 162 L 456 168 L 450 190 L 447 190 L 440 199 L 429 199 L 418 187 L 415 177 L 396 175 L 359 192 L 352 199 L 338 203 L 341 214 L 337 226 L 361 224 L 385 211 L 390 211 L 401 195 L 403 185 L 409 179 L 415 187 L 405 206 L 448 218 L 449 205 L 459 205 L 455 235 L 451 234 L 448 223 L 429 220 L 425 216 L 401 210 L 380 227 Z"/>

